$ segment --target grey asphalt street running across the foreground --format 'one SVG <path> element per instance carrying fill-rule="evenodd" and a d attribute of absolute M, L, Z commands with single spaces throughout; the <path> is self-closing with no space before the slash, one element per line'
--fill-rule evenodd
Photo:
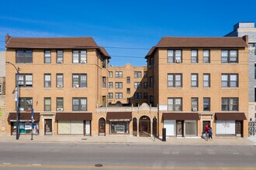
<path fill-rule="evenodd" d="M 0 145 L 0 169 L 256 169 L 255 158 L 254 145 Z"/>

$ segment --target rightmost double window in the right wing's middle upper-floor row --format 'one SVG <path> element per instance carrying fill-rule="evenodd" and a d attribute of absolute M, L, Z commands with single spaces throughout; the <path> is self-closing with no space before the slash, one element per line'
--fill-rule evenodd
<path fill-rule="evenodd" d="M 221 87 L 238 87 L 238 74 L 221 74 Z"/>

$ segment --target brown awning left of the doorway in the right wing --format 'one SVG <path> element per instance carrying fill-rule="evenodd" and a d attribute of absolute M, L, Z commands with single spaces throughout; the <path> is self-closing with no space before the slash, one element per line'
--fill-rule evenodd
<path fill-rule="evenodd" d="M 164 120 L 199 120 L 198 113 L 163 113 Z"/>

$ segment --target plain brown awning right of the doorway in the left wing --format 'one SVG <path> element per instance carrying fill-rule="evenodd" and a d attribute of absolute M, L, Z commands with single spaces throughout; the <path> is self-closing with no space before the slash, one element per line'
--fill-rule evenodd
<path fill-rule="evenodd" d="M 92 121 L 92 113 L 56 113 L 57 121 Z"/>

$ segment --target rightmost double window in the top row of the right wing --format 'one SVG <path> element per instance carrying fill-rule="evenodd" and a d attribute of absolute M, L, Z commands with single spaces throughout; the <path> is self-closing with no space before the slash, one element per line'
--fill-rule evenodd
<path fill-rule="evenodd" d="M 237 50 L 221 50 L 221 63 L 238 63 Z"/>

